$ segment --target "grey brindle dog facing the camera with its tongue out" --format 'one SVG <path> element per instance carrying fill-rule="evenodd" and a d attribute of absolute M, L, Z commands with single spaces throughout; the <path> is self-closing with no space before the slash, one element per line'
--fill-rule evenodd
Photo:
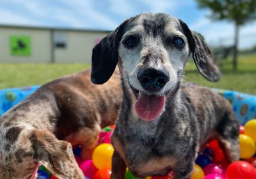
<path fill-rule="evenodd" d="M 208 45 L 175 17 L 142 13 L 125 20 L 93 49 L 91 80 L 121 71 L 123 101 L 112 136 L 111 178 L 166 175 L 189 178 L 200 147 L 218 138 L 229 162 L 239 160 L 239 122 L 230 103 L 199 85 L 181 84 L 190 54 L 199 72 L 217 81 L 220 72 Z"/>

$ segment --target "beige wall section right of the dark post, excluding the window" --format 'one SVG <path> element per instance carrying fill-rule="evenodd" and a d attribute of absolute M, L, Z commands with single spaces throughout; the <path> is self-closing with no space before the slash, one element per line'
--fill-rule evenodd
<path fill-rule="evenodd" d="M 103 38 L 105 32 L 54 31 L 67 34 L 67 47 L 55 48 L 57 63 L 91 63 L 92 49 L 96 38 Z"/>

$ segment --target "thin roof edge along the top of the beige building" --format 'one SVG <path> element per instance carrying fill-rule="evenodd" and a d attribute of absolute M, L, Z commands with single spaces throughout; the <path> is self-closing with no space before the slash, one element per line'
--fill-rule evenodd
<path fill-rule="evenodd" d="M 80 29 L 80 28 L 57 28 L 57 27 L 40 27 L 40 26 L 25 26 L 25 25 L 4 25 L 0 24 L 0 28 L 15 28 L 15 29 L 35 29 L 35 30 L 59 30 L 59 31 L 78 31 L 78 32 L 102 32 L 110 33 L 109 30 L 96 30 L 96 29 Z"/>

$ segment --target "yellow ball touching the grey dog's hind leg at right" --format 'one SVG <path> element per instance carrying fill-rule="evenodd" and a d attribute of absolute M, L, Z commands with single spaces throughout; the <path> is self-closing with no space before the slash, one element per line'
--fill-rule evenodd
<path fill-rule="evenodd" d="M 247 135 L 239 135 L 240 140 L 240 158 L 248 159 L 255 153 L 255 143 L 254 141 Z"/>

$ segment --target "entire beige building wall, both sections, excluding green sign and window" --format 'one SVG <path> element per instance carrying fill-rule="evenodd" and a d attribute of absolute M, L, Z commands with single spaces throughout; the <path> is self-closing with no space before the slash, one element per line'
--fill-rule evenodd
<path fill-rule="evenodd" d="M 54 33 L 65 33 L 66 48 L 54 48 L 51 54 L 51 30 L 40 28 L 0 27 L 0 63 L 45 63 L 54 60 L 56 63 L 91 63 L 95 39 L 102 39 L 107 32 L 90 32 L 76 30 L 53 30 Z M 10 35 L 28 35 L 31 37 L 31 55 L 12 56 L 10 53 Z"/>

